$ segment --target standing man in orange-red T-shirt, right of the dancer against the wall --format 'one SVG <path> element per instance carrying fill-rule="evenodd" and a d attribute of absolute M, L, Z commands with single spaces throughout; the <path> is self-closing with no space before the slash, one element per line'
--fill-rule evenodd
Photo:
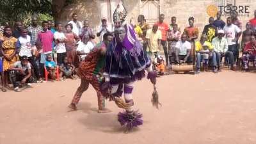
<path fill-rule="evenodd" d="M 159 22 L 156 23 L 158 26 L 158 29 L 162 33 L 162 40 L 161 44 L 164 49 L 164 56 L 166 61 L 166 66 L 169 66 L 169 60 L 168 60 L 168 51 L 167 51 L 167 31 L 170 29 L 170 26 L 164 22 L 164 14 L 159 15 Z"/>

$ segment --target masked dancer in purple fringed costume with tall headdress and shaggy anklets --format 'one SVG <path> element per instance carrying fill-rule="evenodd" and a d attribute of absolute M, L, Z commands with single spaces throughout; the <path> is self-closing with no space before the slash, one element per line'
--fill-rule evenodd
<path fill-rule="evenodd" d="M 151 61 L 143 52 L 143 47 L 136 38 L 133 27 L 130 24 L 122 24 L 126 15 L 125 8 L 122 15 L 119 15 L 118 11 L 115 11 L 113 15 L 115 38 L 106 52 L 104 76 L 106 77 L 105 85 L 110 84 L 111 95 L 114 99 L 122 97 L 124 91 L 127 107 L 125 107 L 125 112 L 118 114 L 118 121 L 131 130 L 132 127 L 143 124 L 142 114 L 132 108 L 134 106 L 132 99 L 134 82 L 145 77 L 147 70 L 148 79 L 156 84 L 156 72 L 152 71 Z"/>

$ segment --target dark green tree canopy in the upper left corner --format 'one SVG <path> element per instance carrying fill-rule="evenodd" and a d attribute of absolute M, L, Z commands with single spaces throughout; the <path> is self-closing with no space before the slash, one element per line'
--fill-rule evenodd
<path fill-rule="evenodd" d="M 0 22 L 30 21 L 32 15 L 58 19 L 61 9 L 74 0 L 1 0 Z"/>

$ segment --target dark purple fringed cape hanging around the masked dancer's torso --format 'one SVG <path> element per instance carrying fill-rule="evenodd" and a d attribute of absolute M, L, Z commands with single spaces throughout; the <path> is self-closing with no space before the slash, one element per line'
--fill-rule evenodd
<path fill-rule="evenodd" d="M 128 51 L 122 45 L 112 43 L 106 54 L 105 72 L 111 77 L 111 84 L 131 83 L 145 77 L 145 68 L 151 65 L 142 46 L 134 45 L 134 51 Z"/>

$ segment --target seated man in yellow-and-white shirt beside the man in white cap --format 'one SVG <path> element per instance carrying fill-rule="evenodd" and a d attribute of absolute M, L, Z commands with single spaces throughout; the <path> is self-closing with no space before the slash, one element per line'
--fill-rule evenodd
<path fill-rule="evenodd" d="M 200 41 L 195 43 L 195 51 L 196 51 L 196 74 L 200 74 L 200 65 L 203 59 L 204 70 L 208 69 L 209 57 L 212 57 L 212 44 L 207 42 L 207 36 L 202 35 Z M 215 60 L 216 61 L 216 60 Z M 214 60 L 212 60 L 214 62 Z M 216 63 L 213 63 L 213 72 L 217 72 Z"/>

